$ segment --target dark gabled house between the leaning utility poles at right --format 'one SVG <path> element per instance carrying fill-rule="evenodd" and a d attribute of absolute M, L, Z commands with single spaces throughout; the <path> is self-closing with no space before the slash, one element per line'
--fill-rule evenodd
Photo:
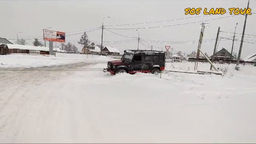
<path fill-rule="evenodd" d="M 230 56 L 231 60 L 234 60 L 235 56 L 233 54 L 231 55 L 225 48 L 222 48 L 214 54 L 214 60 L 230 61 Z M 212 58 L 212 56 L 210 56 L 210 58 Z"/>

